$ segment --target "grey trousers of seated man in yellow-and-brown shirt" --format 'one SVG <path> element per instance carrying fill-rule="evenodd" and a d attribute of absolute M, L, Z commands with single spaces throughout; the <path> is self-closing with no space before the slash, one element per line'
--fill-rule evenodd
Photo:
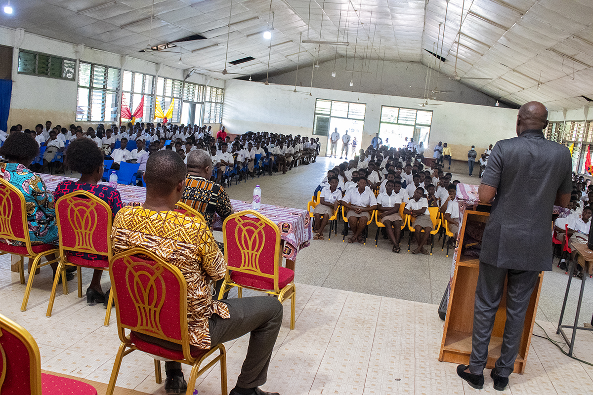
<path fill-rule="evenodd" d="M 228 306 L 230 318 L 222 319 L 213 314 L 208 320 L 212 345 L 240 338 L 251 332 L 247 355 L 237 378 L 237 387 L 263 386 L 267 380 L 267 368 L 282 324 L 282 303 L 272 296 L 223 299 Z M 144 336 L 142 336 L 144 337 Z M 160 339 L 152 340 L 154 343 Z M 174 343 L 169 343 L 173 345 Z M 173 348 L 173 347 L 171 347 Z M 181 369 L 180 362 L 165 362 L 165 370 Z"/>

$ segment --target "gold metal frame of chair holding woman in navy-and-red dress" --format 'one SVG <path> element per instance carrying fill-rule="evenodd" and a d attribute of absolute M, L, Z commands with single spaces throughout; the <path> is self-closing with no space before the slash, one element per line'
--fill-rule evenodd
<path fill-rule="evenodd" d="M 101 205 L 103 206 L 103 208 L 105 208 L 107 210 L 108 215 L 108 219 L 107 219 L 107 260 L 109 260 L 111 258 L 111 256 L 113 256 L 113 252 L 111 251 L 111 224 L 113 223 L 113 213 L 111 213 L 111 207 L 109 207 L 109 204 L 105 203 L 105 201 L 103 201 L 102 199 L 98 198 L 97 196 L 91 194 L 91 192 L 88 191 L 74 191 L 74 192 L 70 192 L 69 194 L 63 195 L 62 197 L 60 197 L 58 199 L 58 201 L 55 202 L 56 207 L 58 206 L 58 202 L 62 201 L 62 200 L 70 200 L 74 197 L 79 197 L 79 196 L 84 196 L 87 199 L 90 199 L 91 201 L 93 201 L 94 204 L 97 205 Z M 91 207 L 92 208 L 92 207 Z M 88 214 L 88 211 L 87 211 Z M 63 220 L 63 219 L 61 219 Z M 70 216 L 68 216 L 66 218 L 66 220 L 68 220 L 71 225 L 73 225 L 72 227 L 74 227 L 74 224 L 72 224 L 72 218 Z M 60 223 L 60 214 L 59 211 L 56 210 L 56 221 L 57 223 Z M 94 253 L 97 255 L 104 255 L 104 252 L 99 252 L 97 251 L 94 246 L 92 245 L 92 242 L 90 241 L 91 238 L 89 237 L 95 230 L 95 227 L 97 226 L 97 223 L 93 223 L 91 224 L 93 225 L 92 229 L 86 229 L 84 230 L 84 233 L 86 233 L 86 235 L 83 235 L 82 237 L 76 237 L 76 242 L 77 242 L 77 246 L 76 248 L 78 248 L 79 252 L 86 252 L 86 253 Z M 78 265 L 78 264 L 73 264 L 72 262 L 68 261 L 68 254 L 66 252 L 68 251 L 72 251 L 71 249 L 65 249 L 62 245 L 62 228 L 60 226 L 58 226 L 58 235 L 60 237 L 60 245 L 59 245 L 59 250 L 60 250 L 60 263 L 58 264 L 58 273 L 65 271 L 66 267 L 65 266 L 75 266 L 76 267 L 76 280 L 78 281 L 78 297 L 81 298 L 82 297 L 82 272 L 81 272 L 81 268 L 90 268 L 90 269 L 98 269 L 98 270 L 102 270 L 102 271 L 109 271 L 109 268 L 97 268 L 95 266 L 86 266 L 86 265 Z M 81 251 L 84 250 L 84 251 Z M 57 276 L 56 276 L 57 278 Z M 53 286 L 52 286 L 52 294 L 49 297 L 49 305 L 47 306 L 47 313 L 46 316 L 47 317 L 51 317 L 52 316 L 52 310 L 53 310 L 53 303 L 55 301 L 56 298 L 56 288 L 58 287 L 58 280 L 54 280 L 53 281 Z M 105 313 L 105 322 L 103 323 L 104 326 L 109 326 L 109 321 L 110 321 L 110 317 L 111 317 L 111 306 L 113 306 L 113 293 L 109 293 L 109 301 L 107 303 L 107 312 Z"/>

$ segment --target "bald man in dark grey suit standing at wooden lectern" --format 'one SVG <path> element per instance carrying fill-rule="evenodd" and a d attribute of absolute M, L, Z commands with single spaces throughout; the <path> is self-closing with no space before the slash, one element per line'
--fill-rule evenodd
<path fill-rule="evenodd" d="M 505 278 L 505 332 L 500 358 L 490 372 L 499 391 L 508 385 L 513 371 L 538 274 L 552 269 L 552 209 L 554 204 L 569 203 L 572 162 L 568 147 L 545 139 L 547 116 L 540 102 L 519 108 L 518 137 L 496 143 L 478 190 L 483 203 L 496 199 L 482 239 L 470 364 L 457 367 L 457 374 L 474 388 L 484 385 L 488 344 Z"/>

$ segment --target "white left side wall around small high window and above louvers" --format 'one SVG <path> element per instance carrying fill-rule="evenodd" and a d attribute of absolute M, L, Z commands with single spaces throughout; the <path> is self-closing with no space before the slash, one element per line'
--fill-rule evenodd
<path fill-rule="evenodd" d="M 54 125 L 61 124 L 65 126 L 75 123 L 83 127 L 87 126 L 86 123 L 75 121 L 78 89 L 76 81 L 19 74 L 19 48 L 116 68 L 123 67 L 125 70 L 152 75 L 157 75 L 158 72 L 159 76 L 180 80 L 183 80 L 187 73 L 187 70 L 174 69 L 168 66 L 160 68 L 157 63 L 122 57 L 118 54 L 76 46 L 53 38 L 30 34 L 24 30 L 13 30 L 1 26 L 0 44 L 14 47 L 11 111 L 8 116 L 9 127 L 20 123 L 24 129 L 33 129 L 36 124 L 44 123 L 46 120 L 51 120 Z M 76 78 L 78 78 L 78 75 L 76 75 Z M 224 88 L 224 80 L 197 73 L 194 73 L 187 81 L 196 84 L 206 84 L 209 81 L 208 85 L 210 86 Z"/>

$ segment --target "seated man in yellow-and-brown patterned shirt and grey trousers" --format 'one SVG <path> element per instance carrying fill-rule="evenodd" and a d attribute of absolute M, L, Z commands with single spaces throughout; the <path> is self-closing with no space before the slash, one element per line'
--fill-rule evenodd
<path fill-rule="evenodd" d="M 220 280 L 227 262 L 212 231 L 194 217 L 174 211 L 185 186 L 186 165 L 177 153 L 161 150 L 146 162 L 146 201 L 124 207 L 114 220 L 113 252 L 141 247 L 177 266 L 187 282 L 187 326 L 190 344 L 210 349 L 251 332 L 247 356 L 229 395 L 265 395 L 272 349 L 282 323 L 282 304 L 272 297 L 213 300 L 210 280 Z M 140 335 L 140 334 L 138 334 Z M 173 348 L 173 343 L 151 336 L 145 341 Z M 184 392 L 187 383 L 180 362 L 165 362 L 165 390 Z M 272 394 L 270 394 L 272 395 Z"/>

